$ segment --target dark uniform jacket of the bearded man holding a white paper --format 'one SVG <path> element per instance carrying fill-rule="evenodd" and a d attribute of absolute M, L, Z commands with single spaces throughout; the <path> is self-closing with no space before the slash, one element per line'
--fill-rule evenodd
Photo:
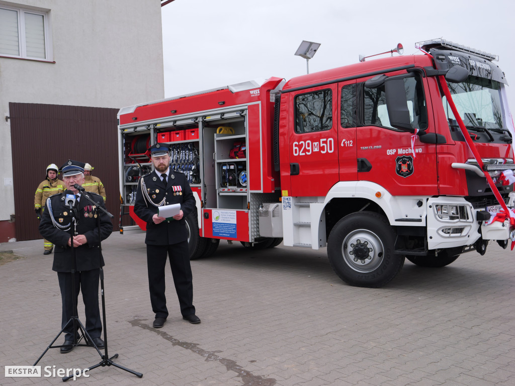
<path fill-rule="evenodd" d="M 146 194 L 143 192 L 143 186 L 146 189 Z M 182 194 L 179 194 L 179 192 Z M 163 199 L 162 205 L 181 204 L 182 219 L 167 220 L 160 224 L 155 224 L 152 221 L 152 216 L 158 213 L 156 205 L 160 204 Z M 134 202 L 134 213 L 147 223 L 145 243 L 169 245 L 187 240 L 185 218 L 194 209 L 195 197 L 183 173 L 170 170 L 166 187 L 161 181 L 161 173 L 155 170 L 140 179 L 136 201 Z"/>

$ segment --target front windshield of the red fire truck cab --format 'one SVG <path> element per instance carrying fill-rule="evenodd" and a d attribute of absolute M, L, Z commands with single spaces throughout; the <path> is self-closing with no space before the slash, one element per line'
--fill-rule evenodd
<path fill-rule="evenodd" d="M 456 109 L 469 130 L 505 129 L 501 103 L 501 86 L 495 80 L 469 76 L 465 82 L 448 83 Z M 443 108 L 451 127 L 457 126 L 447 98 Z"/>

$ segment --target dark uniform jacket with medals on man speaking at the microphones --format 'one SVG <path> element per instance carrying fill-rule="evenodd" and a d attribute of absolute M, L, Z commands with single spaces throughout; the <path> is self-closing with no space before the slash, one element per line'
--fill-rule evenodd
<path fill-rule="evenodd" d="M 77 235 L 84 235 L 88 242 L 74 248 L 77 262 L 76 271 L 89 271 L 104 266 L 104 258 L 99 248 L 100 242 L 98 240 L 97 218 L 95 216 L 100 216 L 101 240 L 109 237 L 113 231 L 113 224 L 108 215 L 101 212 L 101 210 L 97 210 L 96 206 L 82 197 L 82 195 L 79 202 L 75 205 L 78 214 L 76 233 Z M 91 192 L 88 192 L 88 195 L 93 201 L 100 203 L 100 206 L 105 208 L 104 199 L 101 196 Z M 73 227 L 73 210 L 70 210 L 65 205 L 65 197 L 65 192 L 62 192 L 48 198 L 46 210 L 43 212 L 39 224 L 41 235 L 55 244 L 52 270 L 56 272 L 71 272 L 73 268 L 72 248 L 68 247 L 68 240 L 71 237 L 70 230 L 61 229 L 62 226 L 70 223 L 72 223 Z M 55 222 L 52 221 L 52 218 Z"/>

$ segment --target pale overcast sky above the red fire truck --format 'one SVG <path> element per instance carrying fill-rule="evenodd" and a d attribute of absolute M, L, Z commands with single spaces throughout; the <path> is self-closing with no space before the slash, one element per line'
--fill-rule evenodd
<path fill-rule="evenodd" d="M 499 55 L 515 113 L 512 0 L 175 0 L 162 8 L 165 97 L 306 73 L 302 40 L 321 43 L 310 73 L 444 38 Z M 389 54 L 388 54 L 389 55 Z M 395 55 L 395 54 L 394 54 Z M 386 56 L 386 55 L 385 55 Z M 380 57 L 377 57 L 380 58 Z M 370 59 L 372 60 L 372 59 Z"/>

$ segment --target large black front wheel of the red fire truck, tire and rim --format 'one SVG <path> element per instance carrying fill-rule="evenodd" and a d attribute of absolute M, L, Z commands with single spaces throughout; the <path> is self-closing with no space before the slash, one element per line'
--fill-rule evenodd
<path fill-rule="evenodd" d="M 328 240 L 329 261 L 338 277 L 351 286 L 382 287 L 404 265 L 404 256 L 393 253 L 395 240 L 396 233 L 384 216 L 353 213 L 333 227 Z"/>

